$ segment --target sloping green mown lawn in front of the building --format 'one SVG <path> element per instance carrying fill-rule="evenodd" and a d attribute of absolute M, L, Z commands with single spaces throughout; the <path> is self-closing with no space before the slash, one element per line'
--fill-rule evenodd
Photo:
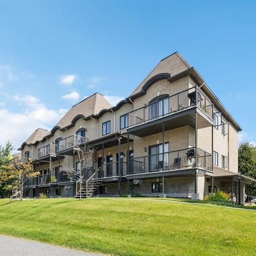
<path fill-rule="evenodd" d="M 0 200 L 0 234 L 113 255 L 256 255 L 256 212 L 124 198 Z"/>

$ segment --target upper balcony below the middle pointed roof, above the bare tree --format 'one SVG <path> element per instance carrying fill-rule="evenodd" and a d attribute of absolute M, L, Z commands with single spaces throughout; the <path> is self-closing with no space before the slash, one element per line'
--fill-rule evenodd
<path fill-rule="evenodd" d="M 56 145 L 58 154 L 73 155 L 73 150 L 79 146 L 85 145 L 87 138 L 79 135 L 70 135 L 67 138 L 61 139 Z"/>

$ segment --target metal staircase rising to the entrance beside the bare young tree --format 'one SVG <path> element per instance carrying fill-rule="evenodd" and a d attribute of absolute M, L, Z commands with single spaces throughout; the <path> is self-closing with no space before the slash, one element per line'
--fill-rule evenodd
<path fill-rule="evenodd" d="M 79 180 L 76 182 L 76 197 L 77 198 L 89 198 L 93 195 L 93 193 L 99 188 L 102 180 L 96 178 L 97 173 L 101 169 L 98 168 L 88 179 L 85 179 L 84 174 Z"/>

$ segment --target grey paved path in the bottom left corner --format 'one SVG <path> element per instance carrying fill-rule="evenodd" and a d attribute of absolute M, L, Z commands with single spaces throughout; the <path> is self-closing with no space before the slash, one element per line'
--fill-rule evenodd
<path fill-rule="evenodd" d="M 79 252 L 39 243 L 22 238 L 0 235 L 0 255 L 1 256 L 103 256 L 91 252 Z"/>

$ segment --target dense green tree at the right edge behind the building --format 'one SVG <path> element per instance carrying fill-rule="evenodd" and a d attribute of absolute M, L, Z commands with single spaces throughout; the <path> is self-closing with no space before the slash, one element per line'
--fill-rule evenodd
<path fill-rule="evenodd" d="M 256 179 L 256 147 L 249 141 L 242 142 L 238 149 L 238 168 L 242 174 Z M 252 186 L 253 194 L 256 193 L 256 185 Z"/>

